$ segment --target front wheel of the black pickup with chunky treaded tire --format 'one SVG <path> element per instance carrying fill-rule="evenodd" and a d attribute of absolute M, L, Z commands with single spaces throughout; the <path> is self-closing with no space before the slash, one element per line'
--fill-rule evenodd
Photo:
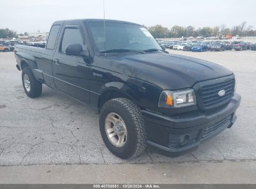
<path fill-rule="evenodd" d="M 115 124 L 109 121 L 109 116 L 115 116 Z M 117 119 L 117 117 L 120 118 Z M 112 117 L 111 117 L 112 118 Z M 114 119 L 110 119 L 114 120 Z M 126 134 L 118 135 L 115 132 L 121 131 Z M 107 134 L 107 131 L 109 134 Z M 121 159 L 130 159 L 141 154 L 146 149 L 146 128 L 140 108 L 130 99 L 115 98 L 103 104 L 100 110 L 100 133 L 107 148 Z M 112 136 L 110 136 L 112 135 Z M 123 137 L 119 141 L 119 138 Z M 115 139 L 114 139 L 115 138 Z"/>

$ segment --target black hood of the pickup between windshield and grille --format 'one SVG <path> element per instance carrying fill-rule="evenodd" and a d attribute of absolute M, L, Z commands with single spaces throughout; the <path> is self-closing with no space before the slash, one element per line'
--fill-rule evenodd
<path fill-rule="evenodd" d="M 124 55 L 117 59 L 122 65 L 120 67 L 123 67 L 122 73 L 136 80 L 153 83 L 162 89 L 189 88 L 197 81 L 233 74 L 216 63 L 167 53 Z"/>

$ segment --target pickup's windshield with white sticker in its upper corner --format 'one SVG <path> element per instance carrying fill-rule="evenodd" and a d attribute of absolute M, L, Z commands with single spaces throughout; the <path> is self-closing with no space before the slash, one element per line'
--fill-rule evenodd
<path fill-rule="evenodd" d="M 149 31 L 140 25 L 120 22 L 88 22 L 95 46 L 104 52 L 113 49 L 126 50 L 162 50 Z M 105 39 L 106 31 L 106 39 Z"/>

